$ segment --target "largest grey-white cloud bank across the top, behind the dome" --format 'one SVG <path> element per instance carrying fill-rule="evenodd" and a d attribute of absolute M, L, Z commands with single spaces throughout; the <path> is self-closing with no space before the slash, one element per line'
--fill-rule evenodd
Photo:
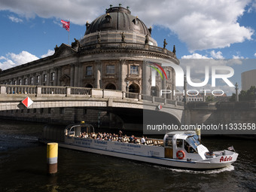
<path fill-rule="evenodd" d="M 43 18 L 71 19 L 72 23 L 84 25 L 104 14 L 109 4 L 130 6 L 132 14 L 138 15 L 149 26 L 169 28 L 187 44 L 188 49 L 206 50 L 230 47 L 230 44 L 251 40 L 253 29 L 240 26 L 239 17 L 251 0 L 180 0 L 180 1 L 72 1 L 72 0 L 24 0 L 2 1 L 0 10 L 9 10 L 24 17 L 36 15 Z M 145 8 L 146 6 L 146 8 Z"/>

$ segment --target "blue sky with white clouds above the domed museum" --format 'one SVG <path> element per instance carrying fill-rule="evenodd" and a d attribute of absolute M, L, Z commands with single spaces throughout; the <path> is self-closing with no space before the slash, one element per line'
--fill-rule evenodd
<path fill-rule="evenodd" d="M 109 5 L 119 3 L 152 26 L 159 47 L 164 38 L 167 49 L 175 44 L 178 59 L 251 59 L 231 66 L 233 84 L 241 84 L 241 72 L 256 69 L 254 0 L 1 0 L 0 69 L 53 54 L 56 44 L 67 44 L 69 34 L 60 20 L 71 20 L 72 42 L 84 36 L 87 20 L 92 22 Z"/>

